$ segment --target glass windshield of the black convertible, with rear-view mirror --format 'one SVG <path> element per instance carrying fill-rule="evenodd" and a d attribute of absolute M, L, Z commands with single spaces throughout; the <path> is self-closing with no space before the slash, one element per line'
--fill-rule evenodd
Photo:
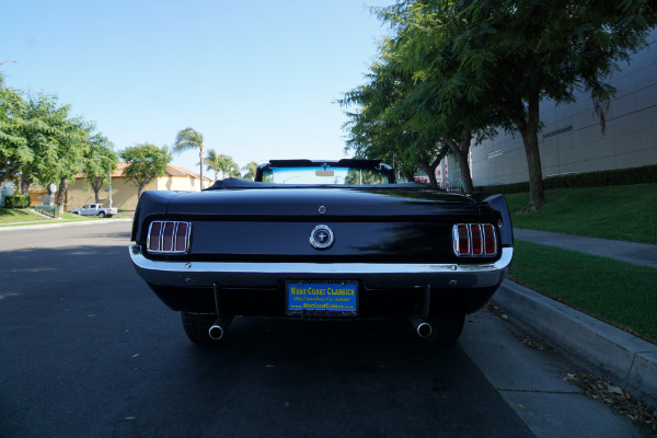
<path fill-rule="evenodd" d="M 372 169 L 334 166 L 273 168 L 263 173 L 263 182 L 275 184 L 389 184 L 388 174 Z"/>

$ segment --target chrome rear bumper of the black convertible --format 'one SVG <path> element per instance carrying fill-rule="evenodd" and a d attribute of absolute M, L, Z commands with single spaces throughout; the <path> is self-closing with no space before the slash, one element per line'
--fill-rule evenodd
<path fill-rule="evenodd" d="M 250 263 L 250 262 L 159 262 L 141 254 L 139 245 L 130 245 L 130 257 L 139 275 L 150 283 L 171 286 L 206 286 L 210 278 L 229 277 L 244 281 L 251 278 L 287 278 L 289 276 L 367 276 L 391 278 L 428 276 L 459 279 L 466 276 L 469 285 L 476 287 L 498 285 L 508 270 L 514 256 L 512 247 L 504 247 L 502 257 L 489 264 L 404 264 L 404 263 Z M 247 276 L 245 276 L 247 274 Z M 473 277 L 474 276 L 474 277 Z M 183 283 L 180 283 L 184 280 Z M 198 281 L 197 281 L 198 280 Z M 186 284 L 185 284 L 186 281 Z M 216 281 L 216 280 L 215 280 Z M 440 281 L 442 283 L 442 281 Z"/>

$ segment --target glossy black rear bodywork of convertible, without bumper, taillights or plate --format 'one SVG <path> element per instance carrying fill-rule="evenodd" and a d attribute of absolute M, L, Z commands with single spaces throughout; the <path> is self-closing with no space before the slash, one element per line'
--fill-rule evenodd
<path fill-rule="evenodd" d="M 322 208 L 323 207 L 323 208 Z M 325 211 L 325 212 L 320 212 Z M 188 254 L 152 255 L 146 251 L 153 220 L 192 224 Z M 512 230 L 502 195 L 464 196 L 418 184 L 385 186 L 280 186 L 239 183 L 201 193 L 146 192 L 132 226 L 132 240 L 152 261 L 253 263 L 381 263 L 458 264 L 494 263 L 500 257 L 457 257 L 452 244 L 456 223 L 492 223 L 499 247 L 512 245 Z M 309 235 L 318 224 L 328 226 L 334 244 L 316 250 Z M 325 277 L 325 276 L 324 276 Z M 318 278 L 324 278 L 319 276 Z M 264 287 L 227 283 L 216 273 L 223 306 L 232 314 L 285 315 L 285 276 Z M 420 276 L 389 288 L 359 280 L 360 318 L 411 315 L 423 301 Z M 502 281 L 502 279 L 499 280 Z M 211 288 L 149 286 L 174 310 L 212 312 Z M 495 292 L 492 287 L 431 289 L 430 312 L 473 312 Z"/>

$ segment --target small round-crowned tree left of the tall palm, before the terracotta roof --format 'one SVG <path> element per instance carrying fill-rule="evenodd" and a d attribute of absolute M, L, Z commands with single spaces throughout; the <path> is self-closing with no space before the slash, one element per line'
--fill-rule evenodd
<path fill-rule="evenodd" d="M 166 164 L 172 157 L 169 149 L 152 143 L 140 143 L 124 149 L 120 158 L 128 163 L 124 175 L 137 186 L 137 197 L 141 197 L 143 187 L 157 177 L 164 175 Z"/>

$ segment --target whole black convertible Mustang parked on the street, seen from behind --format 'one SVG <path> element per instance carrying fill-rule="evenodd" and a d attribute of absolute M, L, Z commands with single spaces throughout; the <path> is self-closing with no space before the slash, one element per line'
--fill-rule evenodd
<path fill-rule="evenodd" d="M 378 160 L 274 160 L 255 182 L 143 193 L 131 240 L 137 273 L 195 343 L 234 315 L 407 318 L 452 343 L 506 276 L 514 237 L 502 195 L 397 184 Z"/>

